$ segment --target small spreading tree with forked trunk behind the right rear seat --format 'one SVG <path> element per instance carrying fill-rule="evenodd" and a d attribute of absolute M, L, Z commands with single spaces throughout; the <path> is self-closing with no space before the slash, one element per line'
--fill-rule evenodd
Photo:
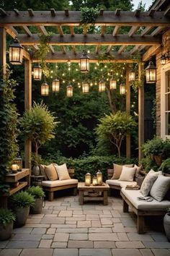
<path fill-rule="evenodd" d="M 132 116 L 125 112 L 117 111 L 116 114 L 109 114 L 99 119 L 100 124 L 96 129 L 98 140 L 109 140 L 117 148 L 120 157 L 122 140 L 135 128 L 135 121 Z"/>

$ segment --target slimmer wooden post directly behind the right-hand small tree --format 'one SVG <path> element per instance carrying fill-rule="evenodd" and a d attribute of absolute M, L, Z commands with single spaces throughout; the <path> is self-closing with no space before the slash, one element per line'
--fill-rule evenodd
<path fill-rule="evenodd" d="M 130 82 L 129 82 L 130 67 L 126 69 L 126 113 L 130 115 Z M 130 135 L 126 135 L 126 157 L 130 158 Z"/>

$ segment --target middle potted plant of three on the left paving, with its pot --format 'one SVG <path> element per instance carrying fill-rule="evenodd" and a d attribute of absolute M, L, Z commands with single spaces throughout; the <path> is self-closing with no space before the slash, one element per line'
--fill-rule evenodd
<path fill-rule="evenodd" d="M 21 191 L 12 195 L 12 207 L 16 215 L 16 221 L 14 222 L 15 227 L 23 226 L 30 212 L 30 206 L 35 204 L 35 199 L 28 192 Z"/>

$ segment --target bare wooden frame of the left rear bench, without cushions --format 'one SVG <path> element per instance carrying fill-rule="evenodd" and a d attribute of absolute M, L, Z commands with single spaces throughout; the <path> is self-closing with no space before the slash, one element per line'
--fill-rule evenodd
<path fill-rule="evenodd" d="M 68 173 L 71 177 L 71 179 L 74 176 L 74 169 L 68 169 Z M 73 188 L 73 195 L 77 195 L 77 184 L 69 184 L 69 185 L 61 185 L 58 187 L 45 187 L 42 186 L 44 191 L 48 192 L 48 200 L 53 201 L 54 199 L 54 192 L 58 190 L 63 190 L 63 189 L 71 189 Z"/>

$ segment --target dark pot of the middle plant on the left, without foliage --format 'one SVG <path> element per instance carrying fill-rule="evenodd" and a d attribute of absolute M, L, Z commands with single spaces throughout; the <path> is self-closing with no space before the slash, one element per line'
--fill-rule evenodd
<path fill-rule="evenodd" d="M 14 208 L 14 213 L 16 214 L 16 221 L 14 221 L 14 227 L 19 228 L 24 226 L 29 216 L 30 206 L 27 208 Z"/>

